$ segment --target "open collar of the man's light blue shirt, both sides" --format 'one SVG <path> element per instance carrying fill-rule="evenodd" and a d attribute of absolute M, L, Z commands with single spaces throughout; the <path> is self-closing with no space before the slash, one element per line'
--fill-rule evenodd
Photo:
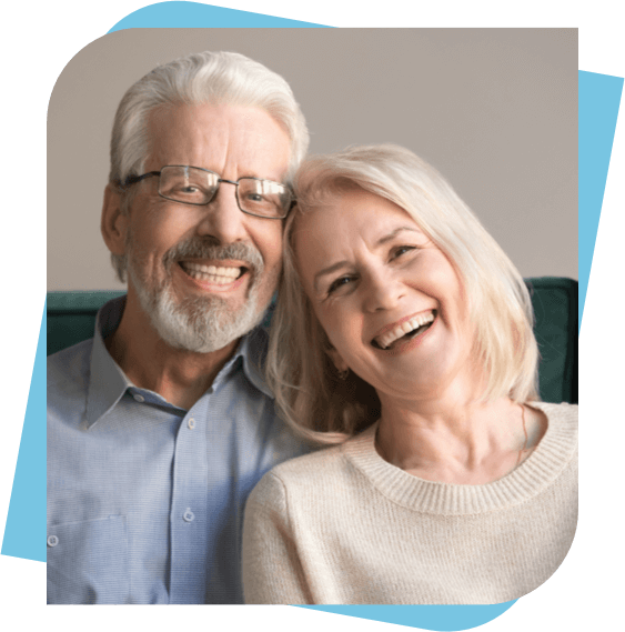
<path fill-rule="evenodd" d="M 107 302 L 99 310 L 95 318 L 90 364 L 91 373 L 87 395 L 85 412 L 88 427 L 93 425 L 110 412 L 129 388 L 137 389 L 113 360 L 104 344 L 104 339 L 119 327 L 124 307 L 125 295 L 119 297 Z M 244 335 L 240 340 L 234 355 L 216 375 L 212 389 L 218 389 L 242 363 L 243 373 L 252 385 L 273 399 L 273 394 L 269 390 L 262 372 L 268 340 L 269 335 L 263 327 L 258 327 Z"/>

